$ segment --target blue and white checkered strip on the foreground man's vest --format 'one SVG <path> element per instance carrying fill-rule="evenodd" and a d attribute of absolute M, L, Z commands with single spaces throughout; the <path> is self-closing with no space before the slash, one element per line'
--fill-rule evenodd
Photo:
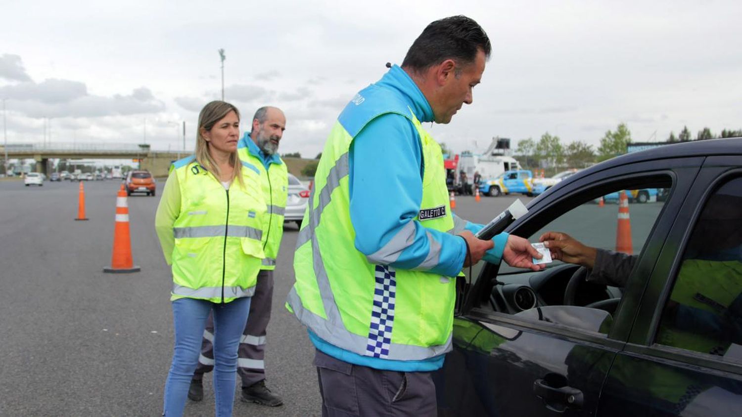
<path fill-rule="evenodd" d="M 397 280 L 394 268 L 376 265 L 376 285 L 371 309 L 371 326 L 366 344 L 366 355 L 374 358 L 389 358 L 394 324 L 394 304 Z"/>

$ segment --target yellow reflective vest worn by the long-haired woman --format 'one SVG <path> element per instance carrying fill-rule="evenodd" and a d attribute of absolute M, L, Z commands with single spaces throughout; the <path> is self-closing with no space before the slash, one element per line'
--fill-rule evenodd
<path fill-rule="evenodd" d="M 180 214 L 173 226 L 173 296 L 229 302 L 255 293 L 266 203 L 260 179 L 243 170 L 229 190 L 193 156 L 176 161 Z"/>

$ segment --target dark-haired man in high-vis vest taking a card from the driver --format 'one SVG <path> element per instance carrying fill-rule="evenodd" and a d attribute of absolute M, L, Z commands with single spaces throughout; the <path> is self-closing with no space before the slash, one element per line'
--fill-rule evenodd
<path fill-rule="evenodd" d="M 430 373 L 451 349 L 462 267 L 542 269 L 524 238 L 482 241 L 482 225 L 453 215 L 441 147 L 421 125 L 471 104 L 489 53 L 476 21 L 434 21 L 332 127 L 287 298 L 316 348 L 325 416 L 435 416 Z"/>

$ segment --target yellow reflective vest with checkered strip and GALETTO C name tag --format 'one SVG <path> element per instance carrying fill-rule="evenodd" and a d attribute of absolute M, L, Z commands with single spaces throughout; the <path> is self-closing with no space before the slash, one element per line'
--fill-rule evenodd
<path fill-rule="evenodd" d="M 352 108 L 361 128 L 397 113 L 416 127 L 424 161 L 418 217 L 424 227 L 453 230 L 441 147 L 413 111 L 386 90 L 364 90 Z M 455 279 L 371 264 L 355 249 L 349 212 L 350 145 L 361 128 L 332 127 L 315 175 L 294 256 L 296 283 L 287 307 L 319 338 L 362 356 L 424 360 L 451 349 Z M 352 129 L 353 130 L 353 129 Z M 380 173 L 380 175 L 383 175 Z M 419 218 L 419 213 L 426 213 Z"/>

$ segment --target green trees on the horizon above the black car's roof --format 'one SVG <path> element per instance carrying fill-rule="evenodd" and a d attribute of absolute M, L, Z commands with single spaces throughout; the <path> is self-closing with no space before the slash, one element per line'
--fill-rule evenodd
<path fill-rule="evenodd" d="M 717 138 L 735 138 L 742 136 L 742 129 L 723 129 L 719 135 L 715 135 L 708 127 L 699 130 L 695 139 L 687 126 L 683 127 L 678 136 L 670 132 L 666 142 L 702 141 Z M 628 144 L 631 143 L 631 131 L 626 123 L 620 123 L 616 130 L 608 130 L 600 139 L 600 146 L 585 141 L 571 141 L 562 144 L 559 136 L 544 133 L 539 140 L 531 138 L 518 141 L 515 153 L 524 167 L 574 167 L 584 168 L 596 162 L 605 161 L 615 156 L 626 153 Z"/>

